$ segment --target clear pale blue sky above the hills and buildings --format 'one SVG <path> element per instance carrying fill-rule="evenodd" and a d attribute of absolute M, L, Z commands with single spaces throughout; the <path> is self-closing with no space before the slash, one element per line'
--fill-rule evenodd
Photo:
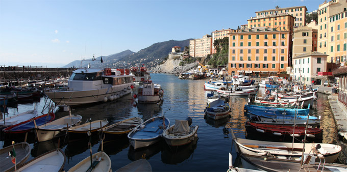
<path fill-rule="evenodd" d="M 0 0 L 0 65 L 62 67 L 154 43 L 236 29 L 256 11 L 323 0 Z"/>

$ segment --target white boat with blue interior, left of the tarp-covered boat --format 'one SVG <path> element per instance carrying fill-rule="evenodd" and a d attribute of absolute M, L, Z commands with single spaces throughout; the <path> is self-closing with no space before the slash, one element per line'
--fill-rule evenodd
<path fill-rule="evenodd" d="M 165 117 L 148 119 L 128 134 L 130 145 L 136 150 L 155 144 L 160 141 L 163 130 L 169 125 L 170 121 Z"/>

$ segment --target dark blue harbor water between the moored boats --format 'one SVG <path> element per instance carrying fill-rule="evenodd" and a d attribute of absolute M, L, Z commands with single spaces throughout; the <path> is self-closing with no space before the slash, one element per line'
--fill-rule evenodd
<path fill-rule="evenodd" d="M 127 95 L 111 102 L 72 108 L 72 114 L 80 114 L 83 117 L 82 123 L 91 118 L 92 120 L 107 119 L 110 124 L 130 117 L 140 117 L 145 121 L 151 117 L 164 115 L 172 125 L 175 123 L 175 119 L 184 120 L 190 117 L 192 125 L 199 125 L 197 131 L 199 139 L 195 139 L 191 144 L 179 148 L 170 148 L 165 141 L 161 141 L 147 149 L 136 151 L 129 146 L 127 138 L 105 142 L 104 151 L 111 158 L 111 169 L 115 171 L 134 160 L 144 157 L 151 163 L 153 171 L 226 171 L 229 164 L 228 154 L 232 152 L 233 157 L 236 157 L 236 151 L 232 146 L 231 134 L 224 133 L 223 129 L 231 128 L 237 137 L 247 137 L 244 128 L 246 117 L 243 114 L 243 106 L 247 102 L 247 97 L 231 97 L 231 118 L 214 121 L 204 118 L 206 95 L 210 93 L 204 91 L 204 82 L 207 80 L 181 80 L 170 74 L 151 74 L 151 77 L 153 82 L 161 84 L 164 90 L 164 101 L 161 105 L 138 104 L 132 95 Z M 260 89 L 258 95 L 262 95 L 263 92 L 264 90 Z M 6 117 L 31 110 L 34 106 L 41 111 L 44 105 L 48 103 L 49 99 L 42 97 L 34 102 L 20 103 L 15 107 L 8 107 Z M 45 109 L 45 112 L 47 110 Z M 316 117 L 321 116 L 320 128 L 324 132 L 323 140 L 320 141 L 339 144 L 328 96 L 319 93 L 310 113 Z M 56 119 L 67 114 L 67 112 L 57 111 Z M 4 137 L 2 135 L 2 137 L 0 147 L 8 146 L 12 140 L 23 140 L 23 138 L 16 136 Z M 267 138 L 260 137 L 259 139 L 266 140 Z M 69 141 L 68 137 L 61 137 L 59 142 L 58 140 L 52 140 L 38 144 L 34 141 L 33 134 L 31 134 L 28 135 L 28 142 L 32 151 L 28 160 L 60 147 L 67 157 L 64 169 L 68 170 L 90 155 L 88 141 L 88 138 Z M 93 138 L 91 145 L 93 153 L 101 150 L 101 143 L 98 138 Z M 9 161 L 11 161 L 11 158 L 9 158 Z M 338 161 L 337 163 L 345 162 L 345 156 L 342 153 Z"/>

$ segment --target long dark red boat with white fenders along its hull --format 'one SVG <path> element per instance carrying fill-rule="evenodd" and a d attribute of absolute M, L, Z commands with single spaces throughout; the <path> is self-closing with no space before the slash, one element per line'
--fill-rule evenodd
<path fill-rule="evenodd" d="M 304 137 L 306 127 L 292 127 L 292 126 L 281 126 L 281 125 L 268 125 L 268 124 L 257 124 L 246 122 L 244 125 L 247 129 L 254 129 L 257 133 L 271 133 L 276 136 L 294 136 Z M 294 132 L 293 132 L 294 131 Z M 307 136 L 310 138 L 321 138 L 323 130 L 320 128 L 307 128 Z"/>

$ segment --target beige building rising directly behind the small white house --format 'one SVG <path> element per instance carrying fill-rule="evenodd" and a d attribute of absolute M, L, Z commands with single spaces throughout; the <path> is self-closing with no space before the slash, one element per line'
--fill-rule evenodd
<path fill-rule="evenodd" d="M 307 52 L 317 51 L 317 30 L 308 26 L 299 26 L 294 28 L 293 33 L 293 58 Z"/>

